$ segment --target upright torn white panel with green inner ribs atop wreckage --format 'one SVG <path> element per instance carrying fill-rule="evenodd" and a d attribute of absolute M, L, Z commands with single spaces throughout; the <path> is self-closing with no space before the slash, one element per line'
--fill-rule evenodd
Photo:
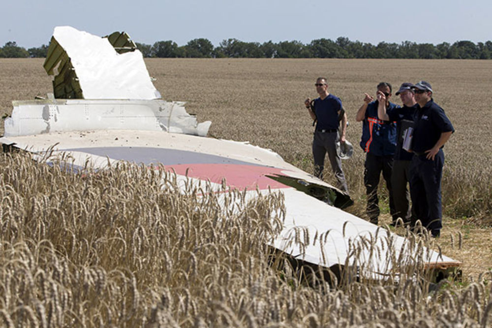
<path fill-rule="evenodd" d="M 55 98 L 158 99 L 142 53 L 126 33 L 99 37 L 55 28 L 43 64 Z"/>

